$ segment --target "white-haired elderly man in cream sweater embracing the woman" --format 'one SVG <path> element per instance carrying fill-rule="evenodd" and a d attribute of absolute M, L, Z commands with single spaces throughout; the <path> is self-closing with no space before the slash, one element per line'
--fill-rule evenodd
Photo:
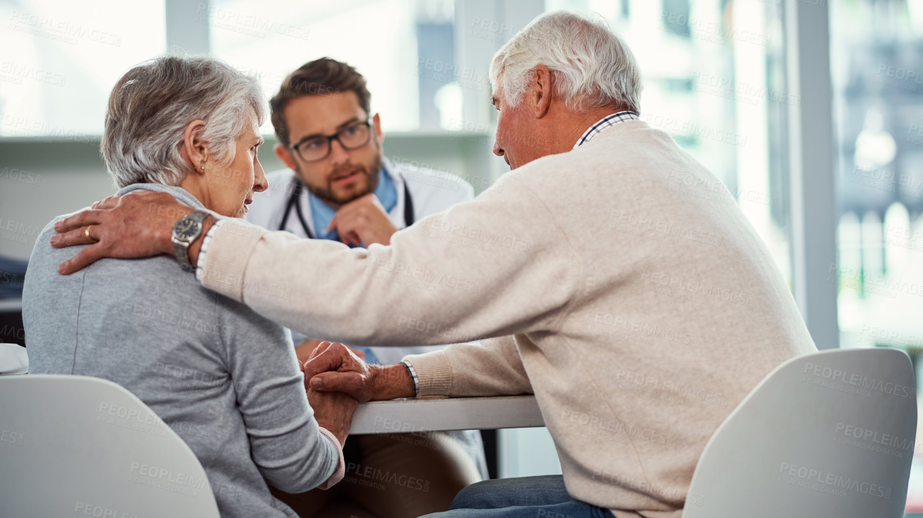
<path fill-rule="evenodd" d="M 773 367 L 816 348 L 736 204 L 670 188 L 719 181 L 638 120 L 638 67 L 605 23 L 537 18 L 490 77 L 494 152 L 513 169 L 502 188 L 367 250 L 207 221 L 191 253 L 198 278 L 352 345 L 482 337 L 394 366 L 325 344 L 306 366 L 311 388 L 360 401 L 535 394 L 563 477 L 477 483 L 439 516 L 678 518 L 709 498 L 689 482 L 714 430 Z M 143 220 L 150 203 L 180 210 L 129 195 L 56 227 L 58 245 L 88 225 L 100 239 L 61 272 L 171 253 L 169 225 Z"/>

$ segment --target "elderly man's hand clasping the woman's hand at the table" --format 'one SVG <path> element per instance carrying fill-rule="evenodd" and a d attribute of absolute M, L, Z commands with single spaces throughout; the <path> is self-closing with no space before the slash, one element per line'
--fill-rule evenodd
<path fill-rule="evenodd" d="M 339 391 L 360 403 L 413 397 L 414 381 L 403 365 L 369 365 L 342 344 L 321 342 L 305 365 L 305 383 L 316 391 Z"/>

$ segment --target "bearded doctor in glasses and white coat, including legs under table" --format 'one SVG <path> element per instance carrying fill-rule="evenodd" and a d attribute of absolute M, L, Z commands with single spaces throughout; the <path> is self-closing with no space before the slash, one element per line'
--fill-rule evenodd
<path fill-rule="evenodd" d="M 386 159 L 380 118 L 369 116 L 370 100 L 365 77 L 330 58 L 286 77 L 270 107 L 279 138 L 274 150 L 287 169 L 267 175 L 269 188 L 254 195 L 246 219 L 301 238 L 366 247 L 389 244 L 391 234 L 417 219 L 473 199 L 472 186 L 454 175 L 409 173 Z M 311 265 L 306 261 L 300 267 Z M 319 340 L 293 335 L 304 362 Z M 389 364 L 441 347 L 359 348 L 366 361 Z M 426 480 L 427 490 L 398 484 L 382 491 L 347 478 L 339 489 L 277 496 L 303 516 L 341 499 L 378 516 L 409 517 L 444 510 L 459 489 L 486 474 L 477 430 L 354 436 L 345 448 L 347 467 L 360 482 L 371 469 Z"/>

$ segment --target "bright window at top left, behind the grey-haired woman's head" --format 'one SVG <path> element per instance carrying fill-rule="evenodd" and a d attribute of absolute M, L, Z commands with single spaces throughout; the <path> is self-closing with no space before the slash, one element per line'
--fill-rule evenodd
<path fill-rule="evenodd" d="M 166 49 L 163 2 L 26 0 L 2 10 L 0 137 L 89 141 L 115 81 Z"/>

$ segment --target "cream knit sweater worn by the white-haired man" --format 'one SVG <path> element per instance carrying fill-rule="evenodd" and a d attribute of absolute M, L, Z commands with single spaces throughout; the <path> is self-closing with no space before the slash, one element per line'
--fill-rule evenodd
<path fill-rule="evenodd" d="M 407 357 L 419 396 L 533 393 L 574 498 L 678 518 L 708 498 L 687 493 L 718 425 L 773 367 L 816 350 L 766 247 L 714 185 L 669 135 L 626 122 L 390 246 L 225 220 L 203 284 L 357 346 L 480 338 Z"/>

